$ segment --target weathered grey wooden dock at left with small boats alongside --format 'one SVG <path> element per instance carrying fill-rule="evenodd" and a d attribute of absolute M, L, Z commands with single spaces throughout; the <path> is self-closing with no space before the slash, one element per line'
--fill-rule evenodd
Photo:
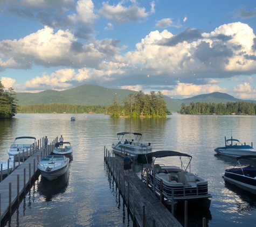
<path fill-rule="evenodd" d="M 42 139 L 43 141 L 43 139 Z M 43 144 L 43 143 L 42 143 Z M 51 143 L 45 148 L 44 146 L 37 151 L 32 152 L 15 171 L 0 182 L 0 222 L 2 224 L 3 218 L 11 214 L 12 207 L 19 202 L 20 196 L 26 193 L 26 188 L 32 184 L 38 177 L 37 162 L 41 159 L 41 155 L 50 154 L 53 150 Z M 39 140 L 38 140 L 39 145 Z M 41 146 L 41 141 L 40 145 Z M 20 159 L 20 162 L 23 160 Z"/>

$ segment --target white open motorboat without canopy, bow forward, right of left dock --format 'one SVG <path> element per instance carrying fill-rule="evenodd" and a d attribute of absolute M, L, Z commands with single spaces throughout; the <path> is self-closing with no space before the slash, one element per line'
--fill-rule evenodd
<path fill-rule="evenodd" d="M 47 155 L 41 157 L 37 168 L 42 176 L 52 181 L 67 172 L 69 162 L 65 155 Z"/>

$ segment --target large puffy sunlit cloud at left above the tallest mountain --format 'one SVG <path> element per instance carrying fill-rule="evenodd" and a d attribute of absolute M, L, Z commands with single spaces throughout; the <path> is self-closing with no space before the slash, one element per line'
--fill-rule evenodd
<path fill-rule="evenodd" d="M 71 31 L 54 33 L 45 27 L 19 40 L 0 41 L 2 68 L 30 69 L 33 64 L 44 67 L 97 67 L 100 60 L 119 52 L 118 40 L 96 40 L 94 44 L 82 44 Z"/>

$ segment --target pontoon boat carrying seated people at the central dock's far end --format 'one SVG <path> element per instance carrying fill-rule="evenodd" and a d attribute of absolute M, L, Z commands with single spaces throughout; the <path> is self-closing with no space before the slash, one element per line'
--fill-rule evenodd
<path fill-rule="evenodd" d="M 124 140 L 124 136 L 130 136 L 133 134 L 133 139 L 128 141 Z M 117 133 L 117 144 L 112 144 L 113 151 L 116 153 L 127 153 L 131 157 L 137 159 L 140 155 L 145 155 L 152 152 L 152 146 L 150 143 L 143 144 L 141 140 L 142 134 L 137 132 L 119 132 Z"/>

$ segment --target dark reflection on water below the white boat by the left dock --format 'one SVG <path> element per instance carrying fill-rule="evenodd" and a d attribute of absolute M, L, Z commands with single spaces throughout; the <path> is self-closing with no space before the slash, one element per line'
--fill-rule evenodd
<path fill-rule="evenodd" d="M 68 186 L 69 177 L 69 169 L 67 169 L 67 172 L 64 175 L 59 176 L 53 181 L 49 181 L 40 175 L 37 188 L 39 195 L 43 195 L 45 197 L 45 201 L 49 202 L 52 200 L 52 197 L 54 197 L 54 195 L 57 195 L 59 193 L 65 193 Z"/>

